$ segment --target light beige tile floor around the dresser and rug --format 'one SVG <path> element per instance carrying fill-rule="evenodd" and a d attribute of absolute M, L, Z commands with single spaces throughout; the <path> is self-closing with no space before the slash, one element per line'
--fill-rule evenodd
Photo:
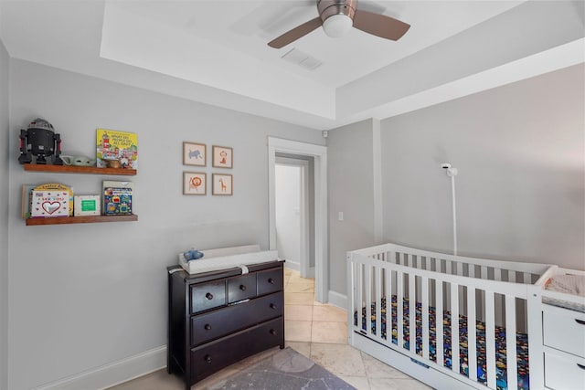
<path fill-rule="evenodd" d="M 358 390 L 421 390 L 430 387 L 383 364 L 347 344 L 347 314 L 335 306 L 314 301 L 314 279 L 303 279 L 299 273 L 285 269 L 284 334 L 286 345 L 312 359 L 344 379 Z M 231 374 L 259 362 L 279 351 L 272 348 L 213 374 L 193 385 L 191 390 L 204 389 Z M 176 375 L 158 370 L 111 390 L 180 390 L 185 385 Z M 277 390 L 277 387 L 275 387 Z"/>

